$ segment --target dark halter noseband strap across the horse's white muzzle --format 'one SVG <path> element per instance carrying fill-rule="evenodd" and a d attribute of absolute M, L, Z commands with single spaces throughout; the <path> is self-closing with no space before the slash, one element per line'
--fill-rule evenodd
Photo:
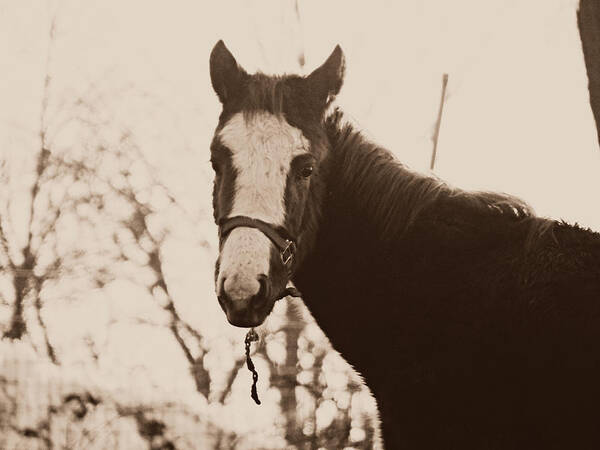
<path fill-rule="evenodd" d="M 296 254 L 296 242 L 289 235 L 287 230 L 260 219 L 253 219 L 252 217 L 246 216 L 234 216 L 219 220 L 219 238 L 225 239 L 234 228 L 238 227 L 256 228 L 261 231 L 279 250 L 279 256 L 281 257 L 283 265 L 288 271 L 291 270 L 292 263 L 294 262 L 294 255 Z"/>

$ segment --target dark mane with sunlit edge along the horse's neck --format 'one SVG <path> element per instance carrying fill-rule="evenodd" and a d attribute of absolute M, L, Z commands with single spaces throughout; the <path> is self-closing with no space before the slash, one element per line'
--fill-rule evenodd
<path fill-rule="evenodd" d="M 424 216 L 445 221 L 455 218 L 456 224 L 465 217 L 476 222 L 492 218 L 526 224 L 527 242 L 531 243 L 554 224 L 536 216 L 527 203 L 514 196 L 465 191 L 410 170 L 390 151 L 367 141 L 343 120 L 339 109 L 326 118 L 325 127 L 341 177 L 337 181 L 362 197 L 361 203 L 369 208 L 364 214 L 372 215 L 386 236 L 399 237 Z"/>

